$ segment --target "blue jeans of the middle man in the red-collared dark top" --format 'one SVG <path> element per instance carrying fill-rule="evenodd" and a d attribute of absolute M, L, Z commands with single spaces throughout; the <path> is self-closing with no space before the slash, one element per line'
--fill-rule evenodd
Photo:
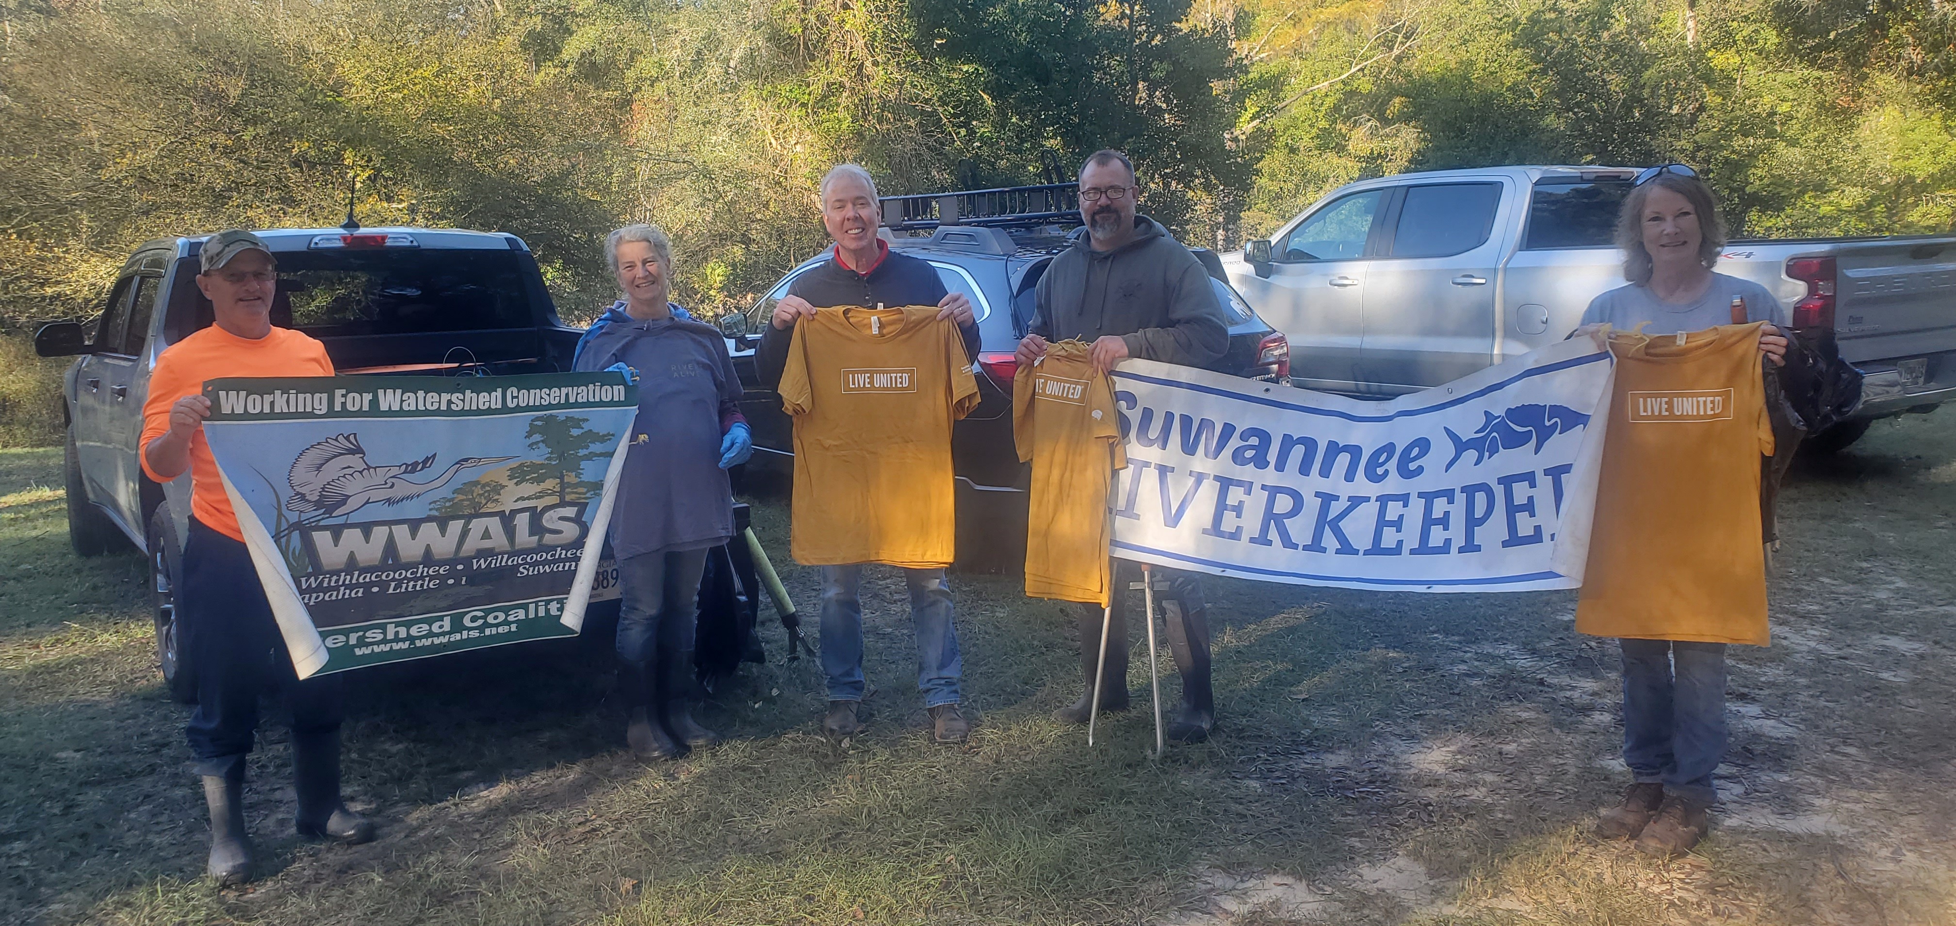
<path fill-rule="evenodd" d="M 904 570 L 910 623 L 917 630 L 917 691 L 923 707 L 958 703 L 958 630 L 951 626 L 945 570 Z M 829 701 L 863 701 L 863 566 L 822 568 L 822 671 Z"/>

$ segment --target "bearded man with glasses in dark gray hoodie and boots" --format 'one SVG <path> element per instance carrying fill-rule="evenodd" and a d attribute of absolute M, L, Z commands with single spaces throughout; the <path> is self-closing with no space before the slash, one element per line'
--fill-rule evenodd
<path fill-rule="evenodd" d="M 1050 341 L 1078 339 L 1093 345 L 1093 366 L 1101 372 L 1129 356 L 1181 366 L 1207 366 L 1228 350 L 1228 321 L 1217 301 L 1209 272 L 1189 249 L 1162 225 L 1134 213 L 1134 162 L 1119 151 L 1095 151 L 1080 164 L 1080 211 L 1086 235 L 1060 253 L 1039 278 L 1031 333 L 1019 341 L 1019 364 L 1046 352 Z M 1133 564 L 1115 562 L 1115 589 L 1138 579 Z M 1215 697 L 1209 685 L 1209 623 L 1201 581 L 1193 574 L 1154 570 L 1168 583 L 1168 644 L 1181 671 L 1181 709 L 1168 738 L 1201 742 L 1215 726 Z M 1127 615 L 1115 593 L 1107 636 L 1107 679 L 1101 711 L 1127 709 Z M 1054 717 L 1088 722 L 1093 701 L 1093 673 L 1101 638 L 1101 611 L 1076 605 L 1080 623 L 1080 668 L 1086 693 Z"/>

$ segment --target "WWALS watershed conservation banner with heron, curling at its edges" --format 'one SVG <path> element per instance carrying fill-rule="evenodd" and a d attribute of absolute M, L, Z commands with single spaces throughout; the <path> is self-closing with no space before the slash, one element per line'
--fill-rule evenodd
<path fill-rule="evenodd" d="M 211 380 L 203 395 L 299 677 L 583 626 L 638 413 L 622 376 Z"/>

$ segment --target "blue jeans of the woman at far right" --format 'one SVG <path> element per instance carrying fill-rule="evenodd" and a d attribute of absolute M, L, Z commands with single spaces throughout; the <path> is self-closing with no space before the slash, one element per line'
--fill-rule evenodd
<path fill-rule="evenodd" d="M 1712 771 L 1725 760 L 1725 644 L 1623 644 L 1623 764 L 1637 783 L 1700 807 L 1717 799 Z"/>

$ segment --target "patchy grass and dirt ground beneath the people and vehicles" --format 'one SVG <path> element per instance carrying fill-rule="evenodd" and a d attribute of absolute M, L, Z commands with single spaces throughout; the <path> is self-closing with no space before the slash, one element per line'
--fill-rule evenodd
<path fill-rule="evenodd" d="M 931 746 L 878 570 L 855 742 L 816 736 L 820 671 L 773 625 L 775 662 L 704 713 L 734 740 L 659 765 L 622 752 L 602 646 L 366 670 L 346 781 L 381 838 L 291 836 L 268 707 L 266 875 L 215 891 L 141 558 L 68 552 L 59 464 L 0 452 L 0 922 L 1956 922 L 1956 411 L 1796 470 L 1774 642 L 1733 650 L 1723 805 L 1674 861 L 1588 836 L 1627 781 L 1620 673 L 1569 593 L 1215 581 L 1222 726 L 1152 760 L 1146 711 L 1093 748 L 1048 718 L 1078 685 L 1070 621 L 984 576 L 955 578 L 978 730 Z M 812 613 L 780 507 L 757 527 Z"/>

